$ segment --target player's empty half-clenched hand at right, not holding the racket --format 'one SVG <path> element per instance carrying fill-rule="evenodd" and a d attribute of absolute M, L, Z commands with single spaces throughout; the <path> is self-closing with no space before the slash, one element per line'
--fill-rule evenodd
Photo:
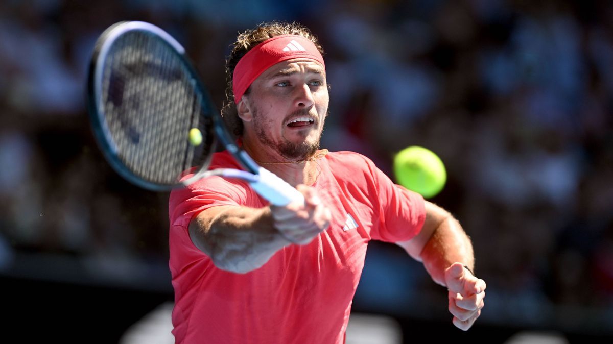
<path fill-rule="evenodd" d="M 462 263 L 454 263 L 445 270 L 445 282 L 449 290 L 449 312 L 454 315 L 453 323 L 466 331 L 481 315 L 485 281 L 474 277 Z"/>

